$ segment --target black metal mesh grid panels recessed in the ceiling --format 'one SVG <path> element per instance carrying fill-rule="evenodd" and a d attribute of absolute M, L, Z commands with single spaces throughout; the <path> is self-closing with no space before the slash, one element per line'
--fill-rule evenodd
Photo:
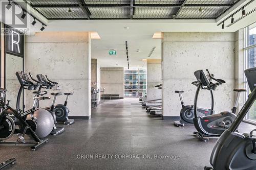
<path fill-rule="evenodd" d="M 24 0 L 47 19 L 216 19 L 242 0 Z"/>

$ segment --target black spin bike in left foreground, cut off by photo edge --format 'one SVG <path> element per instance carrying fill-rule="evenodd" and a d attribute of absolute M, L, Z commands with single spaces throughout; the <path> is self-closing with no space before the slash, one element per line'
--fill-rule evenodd
<path fill-rule="evenodd" d="M 2 109 L 2 112 L 0 113 L 0 143 L 15 144 L 15 145 L 18 143 L 23 143 L 23 144 L 34 143 L 34 145 L 31 147 L 31 150 L 35 151 L 42 144 L 47 143 L 49 139 L 46 138 L 42 140 L 35 133 L 35 130 L 37 128 L 35 117 L 34 119 L 27 119 L 27 115 L 34 114 L 34 110 L 33 110 L 34 107 L 31 110 L 28 110 L 23 113 L 17 112 L 15 109 L 11 108 L 8 104 L 4 102 L 6 91 L 7 91 L 6 89 L 0 88 L 0 93 L 1 93 L 0 108 Z M 36 98 L 35 100 L 44 100 L 44 99 L 47 99 L 47 98 Z M 18 139 L 16 142 L 5 141 L 11 138 L 16 130 L 16 124 L 14 122 L 14 119 L 9 115 L 14 116 L 14 118 L 20 122 L 19 125 L 22 125 L 22 128 L 21 128 L 23 129 L 22 135 L 18 136 Z M 20 131 L 20 129 L 18 130 Z M 25 141 L 25 138 L 24 138 L 25 134 L 30 134 L 34 141 Z"/>

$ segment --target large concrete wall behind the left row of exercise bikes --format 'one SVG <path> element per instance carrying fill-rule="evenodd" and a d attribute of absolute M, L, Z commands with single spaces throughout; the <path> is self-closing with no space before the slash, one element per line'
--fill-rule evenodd
<path fill-rule="evenodd" d="M 48 75 L 61 85 L 62 92 L 74 92 L 68 107 L 70 116 L 91 116 L 91 38 L 88 32 L 37 33 L 27 37 L 26 71 L 35 77 Z M 56 90 L 53 90 L 56 91 Z M 49 91 L 49 95 L 50 95 Z M 27 108 L 32 106 L 31 91 L 26 93 Z M 58 96 L 56 104 L 65 96 Z M 51 101 L 41 101 L 49 106 Z"/>

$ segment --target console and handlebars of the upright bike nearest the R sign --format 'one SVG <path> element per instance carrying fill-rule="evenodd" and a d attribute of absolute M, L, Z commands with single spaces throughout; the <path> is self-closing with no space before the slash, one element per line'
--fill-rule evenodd
<path fill-rule="evenodd" d="M 17 71 L 15 73 L 15 75 L 17 76 L 20 85 L 22 85 L 22 87 L 24 89 L 33 90 L 33 89 L 36 89 L 38 86 L 41 85 L 39 83 L 33 83 L 32 81 L 30 81 L 30 79 L 29 79 L 28 75 L 26 74 L 26 72 Z"/>

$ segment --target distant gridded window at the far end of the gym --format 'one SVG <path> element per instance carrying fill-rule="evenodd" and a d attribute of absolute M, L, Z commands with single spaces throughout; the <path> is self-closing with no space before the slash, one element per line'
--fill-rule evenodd
<path fill-rule="evenodd" d="M 146 94 L 146 70 L 124 70 L 124 97 L 138 98 Z"/>

